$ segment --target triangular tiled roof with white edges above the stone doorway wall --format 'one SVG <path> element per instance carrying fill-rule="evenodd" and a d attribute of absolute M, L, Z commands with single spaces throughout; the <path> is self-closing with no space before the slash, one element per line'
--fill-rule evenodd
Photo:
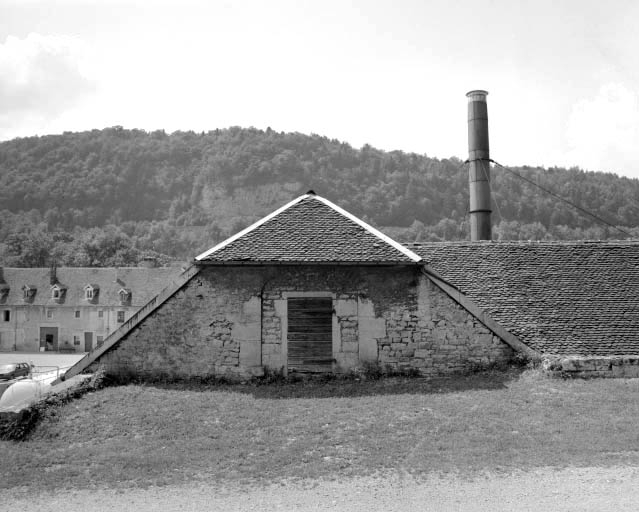
<path fill-rule="evenodd" d="M 416 263 L 419 256 L 313 193 L 298 197 L 209 251 L 204 263 Z"/>

